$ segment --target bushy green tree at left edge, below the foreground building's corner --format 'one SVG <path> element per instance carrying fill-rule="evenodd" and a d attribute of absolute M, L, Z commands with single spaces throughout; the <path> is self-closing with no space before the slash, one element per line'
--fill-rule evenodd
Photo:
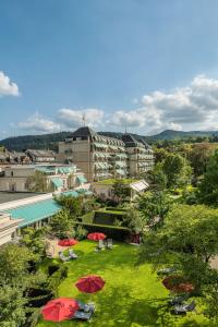
<path fill-rule="evenodd" d="M 5 244 L 0 247 L 0 280 L 4 283 L 25 283 L 28 262 L 33 254 L 27 247 Z"/>

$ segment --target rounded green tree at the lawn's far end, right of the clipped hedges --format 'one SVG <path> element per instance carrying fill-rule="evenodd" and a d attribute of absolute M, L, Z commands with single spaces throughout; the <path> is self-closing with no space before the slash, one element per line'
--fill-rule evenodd
<path fill-rule="evenodd" d="M 146 192 L 138 198 L 138 209 L 147 225 L 155 228 L 164 223 L 164 219 L 172 205 L 166 192 Z"/>

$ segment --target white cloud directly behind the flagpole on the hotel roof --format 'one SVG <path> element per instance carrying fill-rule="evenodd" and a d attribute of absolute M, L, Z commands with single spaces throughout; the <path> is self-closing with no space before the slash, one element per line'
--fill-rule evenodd
<path fill-rule="evenodd" d="M 83 125 L 83 117 L 85 118 L 85 124 L 90 128 L 99 128 L 104 124 L 104 111 L 99 109 L 75 110 L 62 108 L 58 111 L 58 120 L 70 130 Z"/>

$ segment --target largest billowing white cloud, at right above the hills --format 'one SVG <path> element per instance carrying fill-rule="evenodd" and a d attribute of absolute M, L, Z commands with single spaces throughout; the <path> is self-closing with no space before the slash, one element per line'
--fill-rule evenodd
<path fill-rule="evenodd" d="M 198 75 L 186 87 L 144 95 L 140 108 L 119 110 L 110 118 L 117 126 L 132 126 L 145 134 L 165 129 L 218 130 L 218 80 Z"/>

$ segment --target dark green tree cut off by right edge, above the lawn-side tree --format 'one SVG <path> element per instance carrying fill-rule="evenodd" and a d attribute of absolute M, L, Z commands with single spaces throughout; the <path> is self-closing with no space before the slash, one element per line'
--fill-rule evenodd
<path fill-rule="evenodd" d="M 198 197 L 204 204 L 218 206 L 218 150 L 210 157 L 206 167 Z"/>

